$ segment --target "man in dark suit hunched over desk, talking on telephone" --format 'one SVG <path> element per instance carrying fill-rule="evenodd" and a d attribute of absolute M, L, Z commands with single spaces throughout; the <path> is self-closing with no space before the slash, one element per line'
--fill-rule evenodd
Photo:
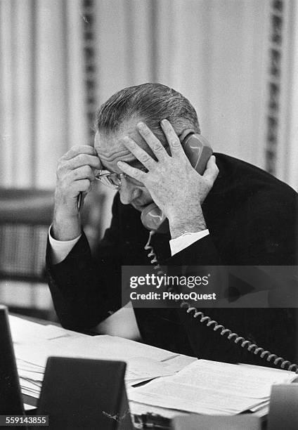
<path fill-rule="evenodd" d="M 257 167 L 221 154 L 216 161 L 214 156 L 209 159 L 204 174 L 197 174 L 181 141 L 200 128 L 193 106 L 181 94 L 160 84 L 124 89 L 101 106 L 96 128 L 94 148 L 72 148 L 58 165 L 47 272 L 65 327 L 92 329 L 121 308 L 122 266 L 150 264 L 144 249 L 148 230 L 140 212 L 152 202 L 169 220 L 169 233 L 152 237 L 157 260 L 167 266 L 297 264 L 294 190 Z M 111 226 L 91 257 L 77 196 L 88 192 L 95 169 L 118 193 Z M 294 309 L 203 312 L 252 344 L 296 359 Z M 198 358 L 272 364 L 221 336 L 221 330 L 200 323 L 185 308 L 135 308 L 134 313 L 148 344 Z"/>

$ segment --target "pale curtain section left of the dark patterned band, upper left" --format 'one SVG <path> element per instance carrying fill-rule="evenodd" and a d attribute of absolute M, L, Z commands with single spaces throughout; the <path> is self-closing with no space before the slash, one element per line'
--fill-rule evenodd
<path fill-rule="evenodd" d="M 53 188 L 86 141 L 80 1 L 1 0 L 0 185 Z"/>

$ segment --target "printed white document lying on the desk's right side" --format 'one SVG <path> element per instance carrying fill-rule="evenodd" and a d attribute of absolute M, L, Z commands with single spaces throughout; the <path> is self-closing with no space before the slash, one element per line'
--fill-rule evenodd
<path fill-rule="evenodd" d="M 170 377 L 128 391 L 129 400 L 148 405 L 204 414 L 233 415 L 268 403 L 273 384 L 290 383 L 293 372 L 268 372 L 197 360 Z"/>

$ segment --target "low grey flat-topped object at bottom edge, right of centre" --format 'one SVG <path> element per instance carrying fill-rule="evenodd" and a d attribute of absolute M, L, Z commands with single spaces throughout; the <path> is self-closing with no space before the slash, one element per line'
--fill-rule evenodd
<path fill-rule="evenodd" d="M 173 430 L 260 430 L 261 423 L 252 415 L 212 416 L 181 415 L 174 417 Z"/>

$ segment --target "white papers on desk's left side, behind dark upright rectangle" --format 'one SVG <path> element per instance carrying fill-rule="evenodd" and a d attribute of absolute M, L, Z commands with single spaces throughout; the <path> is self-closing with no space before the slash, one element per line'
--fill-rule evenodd
<path fill-rule="evenodd" d="M 38 398 L 49 356 L 124 360 L 125 382 L 133 386 L 178 372 L 196 358 L 116 336 L 79 334 L 10 316 L 22 393 Z"/>

